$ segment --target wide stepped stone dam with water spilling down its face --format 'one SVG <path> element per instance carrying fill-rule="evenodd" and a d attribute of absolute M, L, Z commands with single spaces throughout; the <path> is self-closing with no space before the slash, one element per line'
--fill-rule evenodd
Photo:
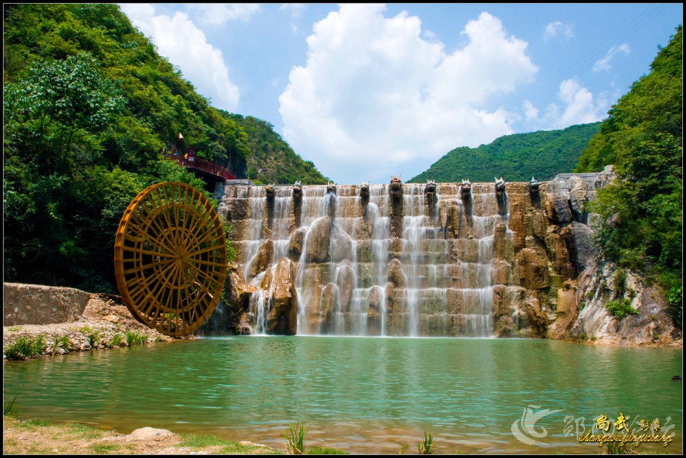
<path fill-rule="evenodd" d="M 249 334 L 568 333 L 606 180 L 226 186 L 237 254 L 215 314 Z"/>

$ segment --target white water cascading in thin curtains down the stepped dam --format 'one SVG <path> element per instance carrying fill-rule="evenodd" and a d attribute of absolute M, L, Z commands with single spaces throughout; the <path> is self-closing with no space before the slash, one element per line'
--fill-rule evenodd
<path fill-rule="evenodd" d="M 289 258 L 298 334 L 493 335 L 502 196 L 487 184 L 468 200 L 455 184 L 401 190 L 400 201 L 388 185 L 302 186 L 296 199 L 290 186 L 253 187 L 236 243 L 257 287 L 252 333 L 267 333 L 276 265 Z"/>

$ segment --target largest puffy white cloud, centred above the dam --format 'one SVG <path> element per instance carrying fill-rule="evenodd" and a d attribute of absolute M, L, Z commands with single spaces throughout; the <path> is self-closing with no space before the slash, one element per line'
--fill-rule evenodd
<path fill-rule="evenodd" d="M 447 53 L 422 38 L 416 16 L 384 10 L 346 4 L 316 23 L 307 64 L 279 97 L 285 140 L 341 183 L 409 179 L 453 147 L 512 133 L 514 115 L 486 105 L 538 71 L 527 43 L 488 13 L 464 27 L 466 46 Z"/>

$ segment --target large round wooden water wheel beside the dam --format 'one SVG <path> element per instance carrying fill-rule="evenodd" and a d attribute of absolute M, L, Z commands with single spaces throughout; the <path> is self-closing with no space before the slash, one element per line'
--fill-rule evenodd
<path fill-rule="evenodd" d="M 141 191 L 119 222 L 115 275 L 139 322 L 166 335 L 197 330 L 226 279 L 224 228 L 211 202 L 180 182 Z"/>

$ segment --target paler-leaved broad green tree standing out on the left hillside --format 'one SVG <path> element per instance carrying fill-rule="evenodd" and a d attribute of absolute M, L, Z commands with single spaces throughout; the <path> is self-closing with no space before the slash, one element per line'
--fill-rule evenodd
<path fill-rule="evenodd" d="M 97 67 L 88 53 L 39 60 L 25 80 L 5 85 L 5 142 L 10 151 L 25 155 L 32 149 L 42 173 L 64 173 L 73 162 L 97 162 L 96 135 L 121 113 L 124 102 Z"/>

